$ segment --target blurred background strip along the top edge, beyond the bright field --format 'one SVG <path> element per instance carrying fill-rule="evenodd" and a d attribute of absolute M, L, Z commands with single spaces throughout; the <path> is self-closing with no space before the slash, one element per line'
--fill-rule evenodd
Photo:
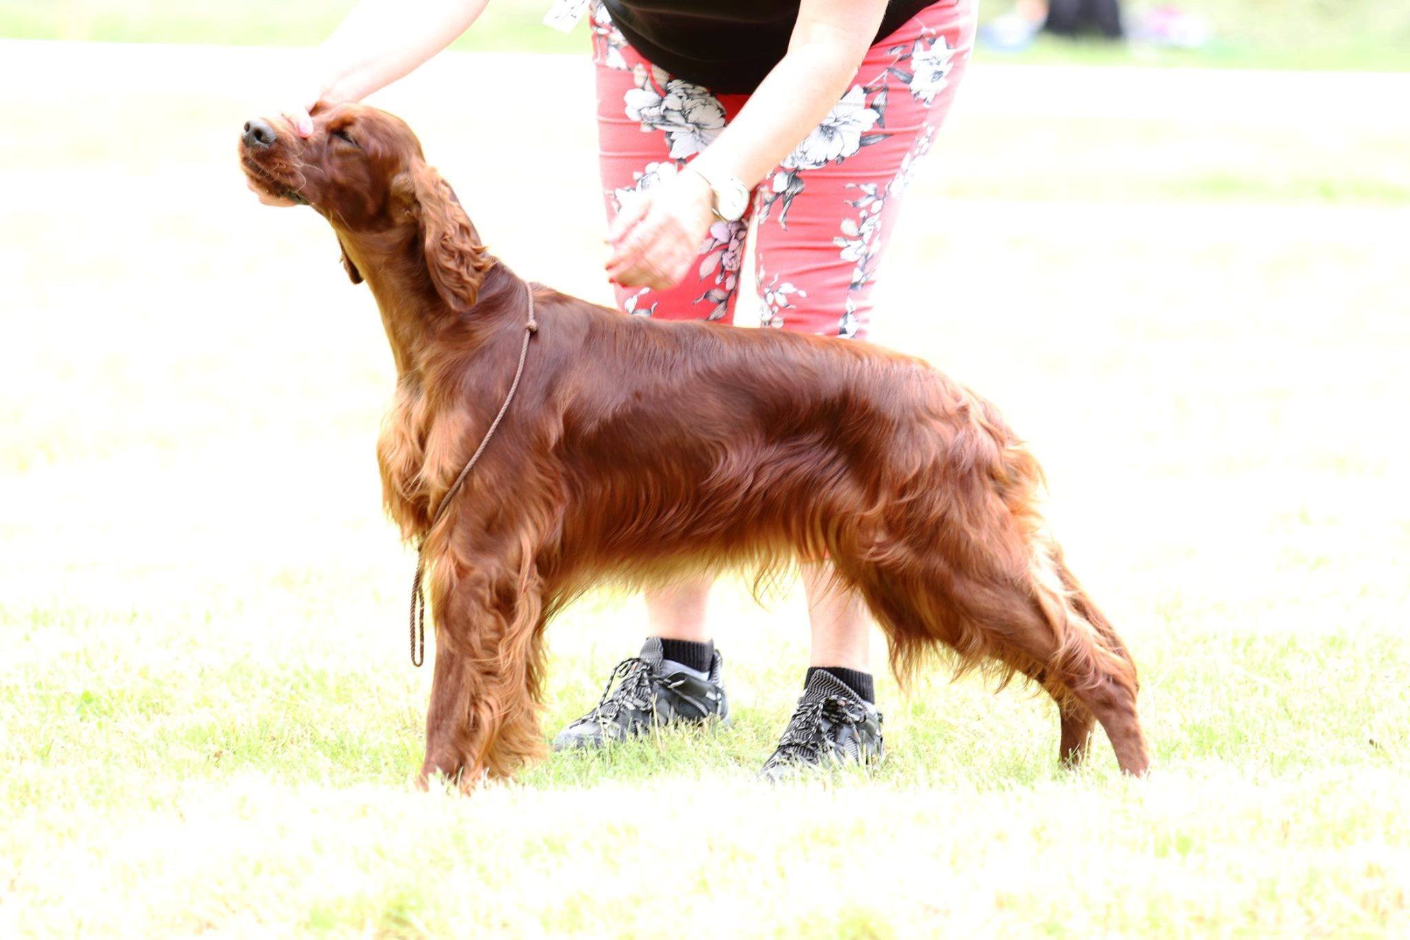
<path fill-rule="evenodd" d="M 113 42 L 307 45 L 320 41 L 352 0 L 0 0 L 0 35 Z M 587 32 L 541 28 L 550 0 L 494 0 L 455 48 L 572 52 Z M 1120 14 L 1112 11 L 1120 8 Z M 1399 0 L 1056 0 L 1053 30 L 1090 34 L 1062 41 L 1035 32 L 1043 0 L 983 4 L 987 55 L 1019 62 L 1144 62 L 1230 68 L 1410 68 L 1410 7 Z M 1129 42 L 1097 41 L 1118 21 Z"/>

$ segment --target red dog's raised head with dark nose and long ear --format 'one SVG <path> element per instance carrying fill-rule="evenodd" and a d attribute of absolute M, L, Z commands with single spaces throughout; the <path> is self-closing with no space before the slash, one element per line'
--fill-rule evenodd
<path fill-rule="evenodd" d="M 420 141 L 400 118 L 365 104 L 319 106 L 313 132 L 285 120 L 252 118 L 240 134 L 240 165 L 271 196 L 305 203 L 333 225 L 352 283 L 360 265 L 384 266 L 416 237 L 441 299 L 475 303 L 494 259 L 455 193 L 426 165 Z"/>

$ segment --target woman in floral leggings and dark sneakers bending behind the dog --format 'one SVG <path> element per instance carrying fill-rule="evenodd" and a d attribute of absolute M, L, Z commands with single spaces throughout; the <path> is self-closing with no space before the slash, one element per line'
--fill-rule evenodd
<path fill-rule="evenodd" d="M 364 0 L 319 48 L 314 79 L 285 116 L 307 135 L 316 101 L 360 100 L 406 75 L 486 1 Z M 584 8 L 620 310 L 730 321 L 754 217 L 763 326 L 864 337 L 901 196 L 969 59 L 971 0 L 561 0 L 554 14 Z M 881 755 L 863 610 L 832 589 L 825 562 L 804 579 L 811 667 L 770 775 Z M 646 593 L 642 654 L 556 747 L 728 717 L 709 586 Z"/>

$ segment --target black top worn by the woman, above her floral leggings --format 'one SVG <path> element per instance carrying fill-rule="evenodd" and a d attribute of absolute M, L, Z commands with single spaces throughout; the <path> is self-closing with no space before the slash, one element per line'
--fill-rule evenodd
<path fill-rule="evenodd" d="M 753 92 L 788 51 L 798 0 L 602 0 L 626 41 L 673 76 Z M 876 39 L 935 0 L 890 0 Z M 873 41 L 876 41 L 873 39 Z"/>

